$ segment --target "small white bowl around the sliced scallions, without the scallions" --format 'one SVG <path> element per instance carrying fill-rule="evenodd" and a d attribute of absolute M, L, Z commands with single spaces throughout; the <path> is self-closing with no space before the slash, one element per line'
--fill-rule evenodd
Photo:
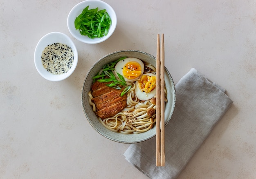
<path fill-rule="evenodd" d="M 78 15 L 80 15 L 85 7 L 89 6 L 89 9 L 95 9 L 99 8 L 99 10 L 106 9 L 108 12 L 112 24 L 110 25 L 108 34 L 106 36 L 103 36 L 102 38 L 94 38 L 91 39 L 88 36 L 81 35 L 79 30 L 76 30 L 74 21 Z M 114 11 L 114 9 L 107 4 L 106 2 L 103 2 L 101 0 L 85 0 L 83 2 L 80 2 L 79 4 L 76 4 L 75 7 L 70 11 L 69 15 L 67 16 L 67 28 L 70 31 L 70 33 L 76 38 L 77 40 L 87 43 L 87 44 L 97 44 L 100 42 L 103 42 L 107 40 L 112 33 L 114 33 L 115 29 L 117 27 L 117 15 Z"/>

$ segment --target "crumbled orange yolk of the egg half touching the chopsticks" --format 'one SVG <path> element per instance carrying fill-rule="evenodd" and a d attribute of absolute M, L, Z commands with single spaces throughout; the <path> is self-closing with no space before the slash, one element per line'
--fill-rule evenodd
<path fill-rule="evenodd" d="M 155 76 L 142 75 L 138 83 L 140 90 L 149 93 L 155 89 L 157 86 L 156 79 Z"/>

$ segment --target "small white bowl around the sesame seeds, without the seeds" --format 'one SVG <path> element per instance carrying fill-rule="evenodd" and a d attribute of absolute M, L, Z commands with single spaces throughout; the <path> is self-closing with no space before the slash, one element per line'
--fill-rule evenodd
<path fill-rule="evenodd" d="M 43 63 L 41 60 L 42 52 L 44 51 L 45 47 L 47 47 L 47 45 L 54 44 L 54 43 L 66 44 L 67 46 L 69 46 L 72 49 L 72 51 L 74 53 L 74 61 L 73 61 L 72 67 L 66 73 L 63 73 L 61 75 L 54 75 L 54 74 L 48 72 L 43 67 Z M 73 43 L 73 41 L 64 33 L 61 33 L 61 32 L 48 33 L 45 36 L 43 36 L 39 40 L 38 44 L 36 45 L 36 49 L 35 49 L 35 53 L 34 53 L 34 63 L 35 63 L 38 73 L 42 77 L 44 77 L 46 80 L 56 82 L 56 81 L 61 81 L 61 80 L 66 79 L 76 69 L 77 62 L 78 62 L 78 53 L 76 50 L 76 46 Z"/>

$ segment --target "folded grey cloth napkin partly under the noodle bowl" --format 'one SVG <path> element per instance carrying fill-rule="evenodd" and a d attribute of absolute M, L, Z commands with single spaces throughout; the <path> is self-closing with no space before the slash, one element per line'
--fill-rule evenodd
<path fill-rule="evenodd" d="M 165 166 L 156 166 L 155 137 L 131 144 L 126 160 L 151 179 L 175 179 L 232 103 L 224 88 L 191 69 L 176 85 L 175 111 L 165 128 Z"/>

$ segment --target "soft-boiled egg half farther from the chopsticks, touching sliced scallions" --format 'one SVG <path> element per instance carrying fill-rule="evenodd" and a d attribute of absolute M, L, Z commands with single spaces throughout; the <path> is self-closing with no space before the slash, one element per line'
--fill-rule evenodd
<path fill-rule="evenodd" d="M 134 82 L 144 73 L 144 63 L 138 58 L 127 57 L 117 62 L 115 73 L 122 75 L 126 82 Z"/>

